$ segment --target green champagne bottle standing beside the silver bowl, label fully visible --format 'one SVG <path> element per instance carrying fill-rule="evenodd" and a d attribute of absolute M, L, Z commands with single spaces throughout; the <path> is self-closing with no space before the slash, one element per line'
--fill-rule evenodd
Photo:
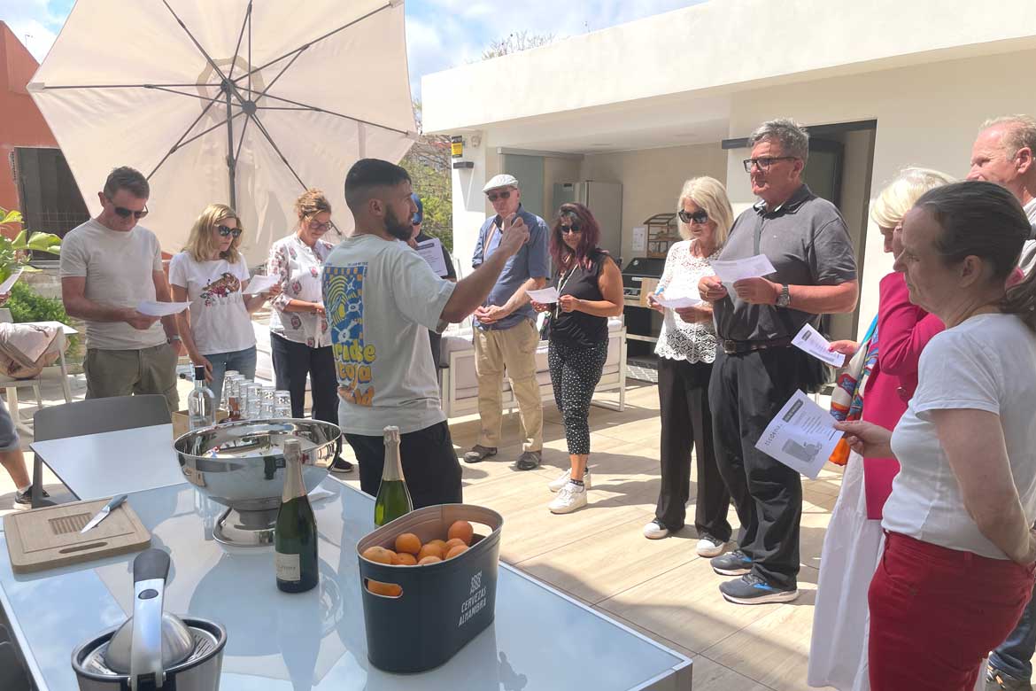
<path fill-rule="evenodd" d="M 274 529 L 277 586 L 285 593 L 304 593 L 317 584 L 317 519 L 303 482 L 303 454 L 298 439 L 284 442 L 284 493 Z"/>

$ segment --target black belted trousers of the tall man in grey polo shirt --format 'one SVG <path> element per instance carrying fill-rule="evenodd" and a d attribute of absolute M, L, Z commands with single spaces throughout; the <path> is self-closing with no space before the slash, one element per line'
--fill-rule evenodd
<path fill-rule="evenodd" d="M 795 587 L 799 574 L 802 480 L 755 442 L 808 380 L 808 357 L 795 347 L 720 351 L 709 383 L 716 459 L 741 520 L 738 542 L 752 573 L 778 586 Z"/>

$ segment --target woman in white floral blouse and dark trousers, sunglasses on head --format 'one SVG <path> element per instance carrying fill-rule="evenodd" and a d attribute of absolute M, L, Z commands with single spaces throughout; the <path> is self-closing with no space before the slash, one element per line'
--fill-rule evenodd
<path fill-rule="evenodd" d="M 320 286 L 334 248 L 323 239 L 332 228 L 330 203 L 321 191 L 307 190 L 295 200 L 295 214 L 294 232 L 274 242 L 266 265 L 269 276 L 280 278 L 282 290 L 269 317 L 277 387 L 291 394 L 292 418 L 303 418 L 308 375 L 313 419 L 338 425 L 338 375 Z M 339 472 L 351 469 L 341 458 L 332 466 Z"/>

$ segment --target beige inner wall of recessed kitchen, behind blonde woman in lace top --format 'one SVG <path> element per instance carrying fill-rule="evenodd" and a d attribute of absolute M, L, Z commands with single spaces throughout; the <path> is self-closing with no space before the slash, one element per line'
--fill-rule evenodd
<path fill-rule="evenodd" d="M 687 178 L 711 175 L 725 181 L 725 165 L 726 154 L 719 142 L 596 153 L 583 159 L 580 179 L 623 183 L 623 259 L 629 261 L 634 257 L 630 229 L 656 213 L 675 211 Z"/>

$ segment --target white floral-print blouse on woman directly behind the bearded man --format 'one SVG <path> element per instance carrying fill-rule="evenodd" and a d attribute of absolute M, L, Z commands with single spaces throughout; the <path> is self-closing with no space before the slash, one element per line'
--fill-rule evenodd
<path fill-rule="evenodd" d="M 269 250 L 266 272 L 281 279 L 284 292 L 272 300 L 274 311 L 269 315 L 269 330 L 289 341 L 305 343 L 311 348 L 330 345 L 327 320 L 314 312 L 285 312 L 285 306 L 292 299 L 306 303 L 322 303 L 320 273 L 323 263 L 330 254 L 332 244 L 317 240 L 311 248 L 294 233 L 282 237 Z"/>

